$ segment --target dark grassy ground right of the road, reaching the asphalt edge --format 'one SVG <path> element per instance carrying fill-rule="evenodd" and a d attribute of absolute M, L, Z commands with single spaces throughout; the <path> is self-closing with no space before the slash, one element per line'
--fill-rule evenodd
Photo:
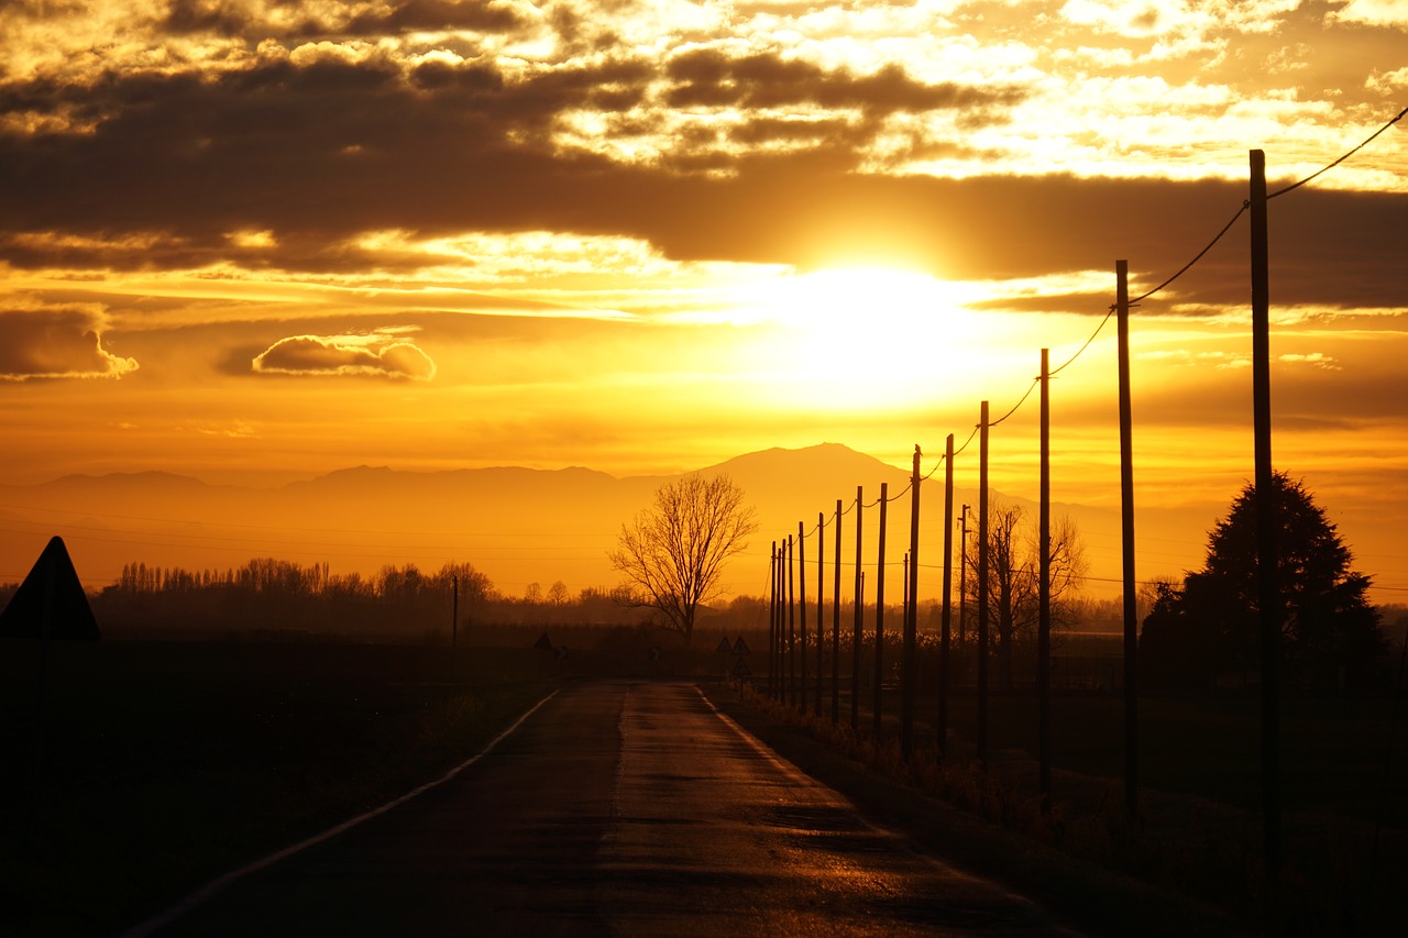
<path fill-rule="evenodd" d="M 1401 799 L 1380 797 L 1385 794 L 1383 701 L 1287 707 L 1286 863 L 1271 894 L 1257 811 L 1259 711 L 1245 699 L 1140 703 L 1142 786 L 1131 817 L 1118 697 L 1056 701 L 1053 792 L 1046 804 L 1029 755 L 1036 751 L 1029 696 L 991 699 L 986 768 L 972 744 L 952 732 L 973 725 L 972 699 L 950 708 L 950 751 L 941 765 L 932 725 L 924 723 L 917 723 L 914 758 L 903 758 L 898 721 L 888 708 L 877 739 L 866 707 L 862 730 L 850 728 L 845 697 L 841 720 L 832 724 L 829 703 L 817 715 L 750 689 L 742 697 L 721 689 L 712 696 L 794 762 L 807 761 L 808 772 L 848 786 L 853 800 L 905 823 L 941 855 L 966 858 L 977 872 L 1042 896 L 1097 934 L 1401 934 L 1397 901 L 1408 884 L 1408 838 Z M 887 794 L 876 797 L 881 780 L 879 790 Z M 952 815 L 959 813 L 980 825 L 960 825 L 953 834 Z M 1019 841 L 974 846 L 995 831 Z M 1041 862 L 1032 862 L 1033 852 Z M 1105 872 L 1094 873 L 1093 866 Z"/>

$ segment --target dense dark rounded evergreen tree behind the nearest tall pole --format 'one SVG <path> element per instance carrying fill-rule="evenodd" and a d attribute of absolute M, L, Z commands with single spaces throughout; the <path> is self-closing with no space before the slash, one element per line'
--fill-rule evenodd
<path fill-rule="evenodd" d="M 1387 645 L 1369 604 L 1370 577 L 1350 569 L 1350 551 L 1304 483 L 1273 475 L 1278 586 L 1284 604 L 1287 677 L 1342 687 L 1378 668 Z M 1208 535 L 1204 569 L 1183 589 L 1167 586 L 1145 618 L 1140 659 L 1155 686 L 1246 680 L 1259 668 L 1256 487 L 1246 484 Z"/>

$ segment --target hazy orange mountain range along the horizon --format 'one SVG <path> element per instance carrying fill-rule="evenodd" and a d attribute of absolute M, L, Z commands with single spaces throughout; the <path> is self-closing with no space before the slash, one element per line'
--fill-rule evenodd
<path fill-rule="evenodd" d="M 959 463 L 960 484 L 976 477 L 976 456 Z M 925 454 L 929 472 L 938 454 Z M 856 486 L 866 503 L 890 484 L 891 497 L 910 480 L 895 466 L 841 444 L 745 454 L 704 473 L 728 473 L 758 510 L 759 532 L 748 555 L 731 565 L 734 592 L 759 593 L 766 582 L 769 544 L 807 531 L 818 513 L 829 515 L 841 499 L 848 511 Z M 128 562 L 184 569 L 228 569 L 259 556 L 314 563 L 334 572 L 375 575 L 384 565 L 415 563 L 422 570 L 445 562 L 469 562 L 494 584 L 517 594 L 522 584 L 563 580 L 572 592 L 611 586 L 618 576 L 605 552 L 622 523 L 650 504 L 655 490 L 672 476 L 615 477 L 584 468 L 527 469 L 496 466 L 441 472 L 410 472 L 387 466 L 355 466 L 273 489 L 213 486 L 165 472 L 65 476 L 35 486 L 0 486 L 0 517 L 15 534 L 0 544 L 0 582 L 18 582 L 49 534 L 58 531 L 80 559 L 89 589 L 117 577 Z M 924 530 L 921 562 L 942 554 L 943 473 L 921 487 Z M 994 493 L 994 497 L 1005 497 Z M 1035 504 L 1018 501 L 1035 517 Z M 970 487 L 955 492 L 955 513 L 977 506 Z M 1070 513 L 1087 544 L 1091 575 L 1118 577 L 1118 513 L 1114 508 L 1056 506 Z M 888 556 L 898 562 L 908 546 L 908 496 L 890 506 Z M 876 510 L 866 511 L 866 539 L 873 544 Z M 1153 515 L 1149 515 L 1153 517 Z M 1202 532 L 1214 513 L 1193 515 L 1177 528 L 1191 549 L 1183 566 L 1197 562 Z M 853 513 L 843 537 L 853 537 Z M 70 525 L 70 527 L 65 527 Z M 976 527 L 976 525 L 974 525 Z M 1166 527 L 1166 525 L 1164 525 Z M 1173 528 L 1160 527 L 1157 537 Z M 42 534 L 41 534 L 42 532 Z M 1145 530 L 1143 535 L 1156 534 Z M 832 546 L 828 538 L 828 562 Z M 845 549 L 853 551 L 853 541 Z M 866 549 L 866 563 L 873 563 Z M 1150 569 L 1149 575 L 1181 572 L 1183 566 Z M 938 573 L 925 573 L 936 577 Z M 921 584 L 922 589 L 922 584 Z"/>

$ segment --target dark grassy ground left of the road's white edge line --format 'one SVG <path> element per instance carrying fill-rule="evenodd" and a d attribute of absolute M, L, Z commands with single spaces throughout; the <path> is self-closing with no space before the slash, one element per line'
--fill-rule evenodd
<path fill-rule="evenodd" d="M 438 777 L 558 682 L 518 649 L 54 644 L 41 703 L 37 646 L 0 652 L 0 932 L 25 935 L 121 931 Z"/>

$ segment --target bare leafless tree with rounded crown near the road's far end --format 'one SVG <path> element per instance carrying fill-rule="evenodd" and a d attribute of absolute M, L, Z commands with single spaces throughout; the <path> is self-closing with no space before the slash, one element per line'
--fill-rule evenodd
<path fill-rule="evenodd" d="M 617 549 L 607 554 L 627 577 L 617 596 L 656 610 L 659 624 L 689 645 L 700 604 L 718 592 L 724 562 L 756 530 L 753 508 L 728 476 L 691 473 L 666 483 L 655 504 L 621 525 Z"/>

